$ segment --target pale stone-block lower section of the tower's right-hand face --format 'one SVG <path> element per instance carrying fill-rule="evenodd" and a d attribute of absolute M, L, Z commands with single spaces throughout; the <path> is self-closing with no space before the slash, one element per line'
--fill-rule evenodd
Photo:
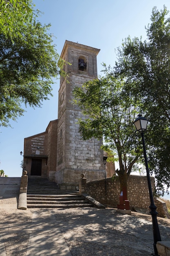
<path fill-rule="evenodd" d="M 80 111 L 68 110 L 69 118 L 66 127 L 68 127 L 69 136 L 66 138 L 66 168 L 99 170 L 101 169 L 101 150 L 97 139 L 88 139 L 84 141 L 79 132 L 77 121 L 82 117 Z M 103 166 L 102 166 L 103 167 Z M 102 168 L 104 169 L 104 167 Z"/>

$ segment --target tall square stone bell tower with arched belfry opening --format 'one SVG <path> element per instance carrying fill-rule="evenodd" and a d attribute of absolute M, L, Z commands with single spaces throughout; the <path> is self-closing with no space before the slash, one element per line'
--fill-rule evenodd
<path fill-rule="evenodd" d="M 65 66 L 68 82 L 60 79 L 55 173 L 57 184 L 78 184 L 82 173 L 88 181 L 104 178 L 103 150 L 100 149 L 102 140 L 82 139 L 77 121 L 83 115 L 72 104 L 73 88 L 97 78 L 98 53 L 99 49 L 67 40 L 62 50 L 61 58 L 71 65 Z"/>

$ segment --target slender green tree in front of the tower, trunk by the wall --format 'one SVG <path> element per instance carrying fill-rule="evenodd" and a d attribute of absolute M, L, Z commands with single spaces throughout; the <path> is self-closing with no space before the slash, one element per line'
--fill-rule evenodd
<path fill-rule="evenodd" d="M 137 103 L 124 93 L 123 79 L 115 79 L 110 68 L 104 66 L 105 76 L 86 82 L 73 90 L 74 104 L 82 110 L 84 117 L 78 120 L 84 140 L 104 138 L 105 151 L 112 150 L 114 160 L 119 161 L 116 170 L 120 180 L 120 191 L 127 195 L 127 180 L 132 166 L 139 161 L 141 144 L 133 121 L 137 117 Z"/>

